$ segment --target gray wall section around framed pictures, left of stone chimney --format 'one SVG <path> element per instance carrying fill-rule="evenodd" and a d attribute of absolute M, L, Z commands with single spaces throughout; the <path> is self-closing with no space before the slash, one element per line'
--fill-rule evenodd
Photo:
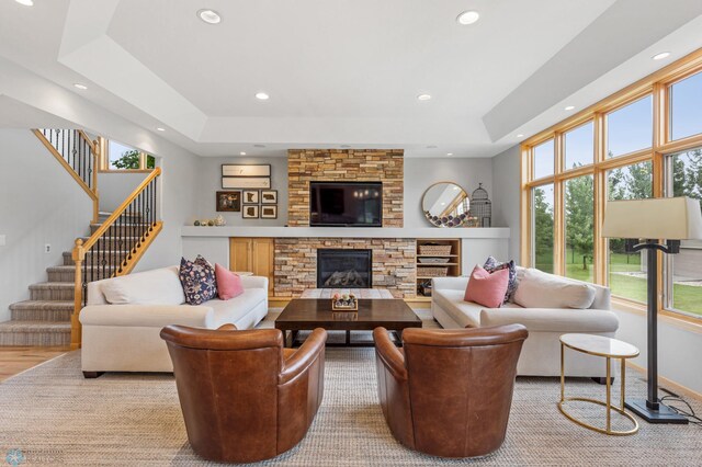
<path fill-rule="evenodd" d="M 241 213 L 217 213 L 216 193 L 218 191 L 229 191 L 222 187 L 222 164 L 223 163 L 270 163 L 271 164 L 271 189 L 278 190 L 278 219 L 244 219 Z M 195 173 L 195 172 L 193 172 Z M 213 158 L 203 157 L 197 162 L 197 205 L 192 212 L 192 219 L 212 219 L 222 214 L 228 226 L 284 226 L 287 224 L 287 158 L 284 157 L 225 157 Z M 239 190 L 230 190 L 239 191 Z"/>

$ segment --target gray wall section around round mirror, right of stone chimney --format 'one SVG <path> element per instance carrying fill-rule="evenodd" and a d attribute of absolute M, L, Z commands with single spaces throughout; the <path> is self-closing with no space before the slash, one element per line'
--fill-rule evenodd
<path fill-rule="evenodd" d="M 468 196 L 483 183 L 492 201 L 491 159 L 469 158 L 405 158 L 405 227 L 431 227 L 421 208 L 424 191 L 437 182 L 454 182 L 461 185 Z"/>

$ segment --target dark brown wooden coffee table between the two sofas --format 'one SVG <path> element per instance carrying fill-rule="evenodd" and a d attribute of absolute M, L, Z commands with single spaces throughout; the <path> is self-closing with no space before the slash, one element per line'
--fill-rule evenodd
<path fill-rule="evenodd" d="M 332 311 L 331 300 L 326 298 L 294 298 L 275 320 L 275 329 L 283 331 L 285 345 L 295 346 L 298 331 L 324 328 L 327 331 L 347 331 L 344 344 L 328 343 L 329 346 L 372 346 L 373 344 L 351 342 L 351 331 L 372 331 L 377 327 L 395 332 L 401 345 L 400 333 L 406 328 L 421 328 L 421 319 L 415 315 L 405 300 L 359 299 L 359 311 Z"/>

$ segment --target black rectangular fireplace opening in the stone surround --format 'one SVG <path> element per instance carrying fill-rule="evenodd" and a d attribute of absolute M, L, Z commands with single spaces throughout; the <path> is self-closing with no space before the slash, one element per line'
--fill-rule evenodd
<path fill-rule="evenodd" d="M 371 288 L 372 265 L 371 250 L 318 249 L 317 288 Z"/>

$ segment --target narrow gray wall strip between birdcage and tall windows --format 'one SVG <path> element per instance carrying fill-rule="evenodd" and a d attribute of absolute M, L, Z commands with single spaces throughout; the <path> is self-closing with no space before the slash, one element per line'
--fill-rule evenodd
<path fill-rule="evenodd" d="M 492 158 L 492 226 L 509 227 L 509 257 L 519 264 L 519 191 L 520 191 L 520 149 L 512 146 Z"/>

